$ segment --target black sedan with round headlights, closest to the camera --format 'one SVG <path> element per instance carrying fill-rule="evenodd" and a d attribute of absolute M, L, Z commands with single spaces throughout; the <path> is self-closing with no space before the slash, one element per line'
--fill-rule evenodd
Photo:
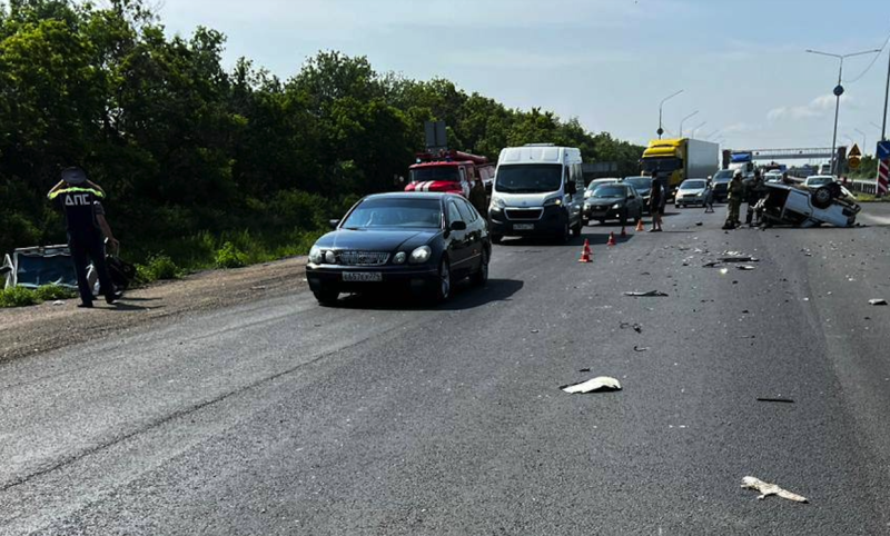
<path fill-rule="evenodd" d="M 380 193 L 358 201 L 309 251 L 306 278 L 323 305 L 340 292 L 402 286 L 436 301 L 455 281 L 488 279 L 485 219 L 454 193 Z"/>

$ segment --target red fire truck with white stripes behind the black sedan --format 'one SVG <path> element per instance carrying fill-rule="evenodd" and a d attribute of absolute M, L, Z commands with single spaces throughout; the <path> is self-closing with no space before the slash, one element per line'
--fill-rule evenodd
<path fill-rule="evenodd" d="M 409 171 L 411 182 L 405 191 L 451 191 L 469 197 L 469 189 L 477 180 L 491 191 L 495 165 L 485 157 L 467 152 L 422 152 Z"/>

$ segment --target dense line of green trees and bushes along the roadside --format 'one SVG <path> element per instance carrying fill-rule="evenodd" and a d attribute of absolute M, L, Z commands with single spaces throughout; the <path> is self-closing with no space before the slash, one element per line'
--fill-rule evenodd
<path fill-rule="evenodd" d="M 246 58 L 226 69 L 224 47 L 208 28 L 167 36 L 142 0 L 0 3 L 0 251 L 65 240 L 44 193 L 71 165 L 107 190 L 130 251 L 200 262 L 224 238 L 304 249 L 349 202 L 393 189 L 425 120 L 493 159 L 555 142 L 631 175 L 642 155 L 576 119 L 378 73 L 364 57 L 319 52 L 281 79 Z"/>

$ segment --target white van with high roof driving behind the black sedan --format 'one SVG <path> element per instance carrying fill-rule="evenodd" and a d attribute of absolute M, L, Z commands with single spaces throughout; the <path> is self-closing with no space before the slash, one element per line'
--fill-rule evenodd
<path fill-rule="evenodd" d="M 508 147 L 497 159 L 488 224 L 492 241 L 505 236 L 581 235 L 584 175 L 581 150 L 553 145 Z"/>

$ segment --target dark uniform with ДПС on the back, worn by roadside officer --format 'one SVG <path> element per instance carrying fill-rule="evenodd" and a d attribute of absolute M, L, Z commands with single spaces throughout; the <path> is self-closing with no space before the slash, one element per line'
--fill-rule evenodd
<path fill-rule="evenodd" d="M 97 215 L 105 215 L 99 202 L 103 197 L 105 193 L 88 185 L 70 182 L 49 195 L 50 200 L 55 201 L 65 212 L 65 221 L 68 226 L 68 247 L 71 250 L 71 259 L 77 272 L 77 287 L 80 291 L 80 300 L 86 306 L 92 305 L 92 289 L 87 281 L 87 267 L 90 260 L 99 276 L 100 292 L 105 296 L 106 301 L 113 302 L 116 299 L 115 285 L 111 282 L 108 265 L 105 261 L 102 231 L 96 219 Z"/>

